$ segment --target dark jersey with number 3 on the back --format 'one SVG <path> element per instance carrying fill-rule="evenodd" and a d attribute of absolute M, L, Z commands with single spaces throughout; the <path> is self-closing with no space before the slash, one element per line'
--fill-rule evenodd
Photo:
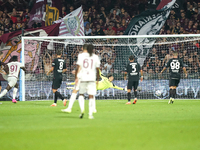
<path fill-rule="evenodd" d="M 128 73 L 129 81 L 139 81 L 140 64 L 137 62 L 129 62 L 126 67 L 126 72 Z"/>

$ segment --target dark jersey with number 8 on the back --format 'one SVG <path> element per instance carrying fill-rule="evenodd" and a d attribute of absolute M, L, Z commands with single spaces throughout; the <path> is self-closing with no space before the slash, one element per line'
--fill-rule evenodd
<path fill-rule="evenodd" d="M 55 58 L 53 60 L 52 67 L 54 67 L 54 77 L 62 76 L 63 69 L 66 69 L 66 63 L 62 58 Z"/>

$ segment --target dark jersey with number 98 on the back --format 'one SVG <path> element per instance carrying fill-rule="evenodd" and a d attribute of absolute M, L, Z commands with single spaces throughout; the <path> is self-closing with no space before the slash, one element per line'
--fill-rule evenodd
<path fill-rule="evenodd" d="M 169 67 L 170 78 L 171 79 L 180 79 L 181 78 L 181 69 L 183 68 L 183 62 L 179 58 L 170 59 L 166 67 Z"/>

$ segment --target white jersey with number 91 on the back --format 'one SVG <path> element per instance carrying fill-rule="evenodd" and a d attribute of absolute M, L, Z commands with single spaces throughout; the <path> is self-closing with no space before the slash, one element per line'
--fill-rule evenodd
<path fill-rule="evenodd" d="M 23 67 L 22 63 L 15 61 L 15 62 L 10 62 L 7 65 L 9 69 L 8 77 L 18 78 L 20 67 Z"/>

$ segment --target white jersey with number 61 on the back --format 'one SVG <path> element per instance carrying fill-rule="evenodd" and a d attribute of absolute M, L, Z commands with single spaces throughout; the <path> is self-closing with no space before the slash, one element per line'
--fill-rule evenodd
<path fill-rule="evenodd" d="M 96 68 L 100 67 L 99 57 L 95 54 L 90 56 L 89 53 L 78 55 L 77 65 L 81 67 L 81 81 L 96 81 Z"/>

